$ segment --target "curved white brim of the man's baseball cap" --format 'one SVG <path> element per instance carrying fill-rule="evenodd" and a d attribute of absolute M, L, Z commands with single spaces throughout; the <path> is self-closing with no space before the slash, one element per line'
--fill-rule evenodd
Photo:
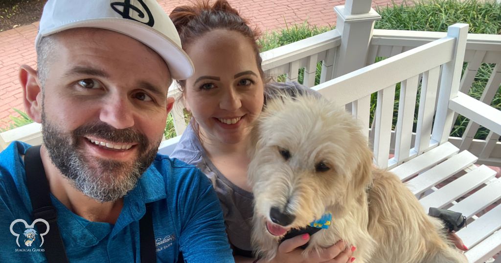
<path fill-rule="evenodd" d="M 51 28 L 50 30 L 38 33 L 35 46 L 38 46 L 42 37 L 73 28 L 100 28 L 124 34 L 158 53 L 167 63 L 170 76 L 173 79 L 184 80 L 193 74 L 193 64 L 188 55 L 173 43 L 172 40 L 146 25 L 119 18 L 86 20 Z"/>

